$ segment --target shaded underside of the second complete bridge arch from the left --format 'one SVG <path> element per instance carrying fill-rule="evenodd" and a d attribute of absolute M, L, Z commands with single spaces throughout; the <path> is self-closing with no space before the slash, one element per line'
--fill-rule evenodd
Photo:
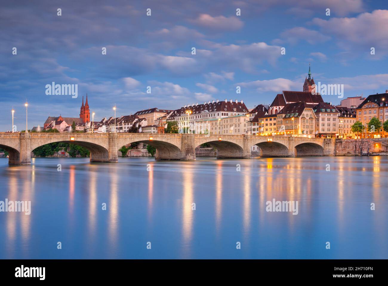
<path fill-rule="evenodd" d="M 174 144 L 171 144 L 168 142 L 159 141 L 159 140 L 139 140 L 139 141 L 129 142 L 125 145 L 137 143 L 137 142 L 144 143 L 154 147 L 155 160 L 182 160 L 181 150 Z M 120 149 L 122 146 L 117 146 L 117 147 Z M 147 150 L 149 150 L 149 153 L 152 155 L 151 153 L 152 148 L 149 148 Z"/>

